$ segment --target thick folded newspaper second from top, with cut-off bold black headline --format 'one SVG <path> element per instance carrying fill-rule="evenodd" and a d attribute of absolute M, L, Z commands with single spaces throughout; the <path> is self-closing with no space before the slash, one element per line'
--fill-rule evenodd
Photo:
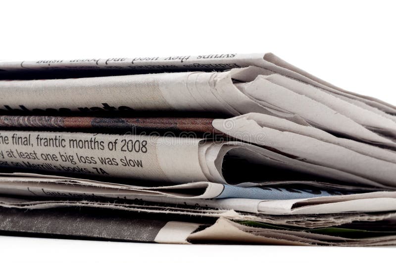
<path fill-rule="evenodd" d="M 328 103 L 317 101 L 313 98 L 321 96 L 315 93 L 320 90 L 301 84 L 308 87 L 305 89 L 308 93 L 313 89 L 313 94 L 299 94 L 290 88 L 293 83 L 288 82 L 293 82 L 292 79 L 286 78 L 284 87 L 275 84 L 276 79 L 271 82 L 262 76 L 266 73 L 251 66 L 228 72 L 0 81 L 3 94 L 0 111 L 3 114 L 194 111 L 228 116 L 256 112 L 395 148 L 395 142 L 389 138 L 396 134 L 391 114 L 361 108 L 324 91 L 333 99 L 324 98 Z"/>

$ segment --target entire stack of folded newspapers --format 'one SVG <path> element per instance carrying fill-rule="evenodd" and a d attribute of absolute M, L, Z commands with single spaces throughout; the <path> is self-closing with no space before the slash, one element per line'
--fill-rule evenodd
<path fill-rule="evenodd" d="M 1 61 L 0 79 L 2 234 L 396 244 L 396 107 L 272 53 Z"/>

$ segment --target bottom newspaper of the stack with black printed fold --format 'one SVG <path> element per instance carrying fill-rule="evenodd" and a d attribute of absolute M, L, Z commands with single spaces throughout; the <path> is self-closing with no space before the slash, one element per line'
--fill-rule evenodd
<path fill-rule="evenodd" d="M 254 221 L 237 222 L 219 218 L 209 222 L 162 219 L 140 214 L 94 212 L 79 209 L 67 211 L 47 208 L 22 211 L 1 208 L 0 230 L 25 234 L 51 234 L 68 237 L 155 243 L 257 243 L 279 245 L 367 246 L 395 244 L 395 231 L 366 231 L 348 228 L 297 230 Z M 93 217 L 94 216 L 94 217 Z M 392 218 L 391 218 L 392 219 Z M 37 222 L 46 222 L 45 224 Z M 116 227 L 114 227 L 116 226 Z M 339 236 L 339 233 L 344 236 Z M 360 236 L 356 237 L 356 232 Z M 351 236 L 352 237 L 348 237 Z M 353 234 L 355 237 L 353 237 Z M 374 235 L 374 236 L 373 236 Z"/>

